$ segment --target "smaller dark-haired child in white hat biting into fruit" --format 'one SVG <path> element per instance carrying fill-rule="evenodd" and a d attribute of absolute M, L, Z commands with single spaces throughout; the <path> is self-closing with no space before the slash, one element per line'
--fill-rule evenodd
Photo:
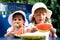
<path fill-rule="evenodd" d="M 10 28 L 7 29 L 7 33 L 4 35 L 5 37 L 13 37 L 17 36 L 15 33 L 23 34 L 26 32 L 25 27 L 27 26 L 28 22 L 25 17 L 25 13 L 23 11 L 15 11 L 8 17 L 8 22 L 11 25 Z"/>

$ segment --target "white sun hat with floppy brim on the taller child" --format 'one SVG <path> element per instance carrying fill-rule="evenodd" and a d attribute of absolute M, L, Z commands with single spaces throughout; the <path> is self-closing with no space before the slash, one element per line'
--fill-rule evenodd
<path fill-rule="evenodd" d="M 38 3 L 36 3 L 35 5 L 33 5 L 33 7 L 32 7 L 32 13 L 31 13 L 30 16 L 29 16 L 30 21 L 31 21 L 32 18 L 33 18 L 33 15 L 34 15 L 35 10 L 38 9 L 38 8 L 44 8 L 44 9 L 46 9 L 46 11 L 47 11 L 47 17 L 48 17 L 48 18 L 51 17 L 52 11 L 49 10 L 44 3 L 38 2 Z"/>

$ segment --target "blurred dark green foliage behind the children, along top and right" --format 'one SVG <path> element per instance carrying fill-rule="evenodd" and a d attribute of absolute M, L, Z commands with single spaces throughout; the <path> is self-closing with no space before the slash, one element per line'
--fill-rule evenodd
<path fill-rule="evenodd" d="M 59 0 L 0 0 L 0 3 L 22 3 L 22 4 L 35 4 L 36 2 L 43 2 L 47 7 L 52 10 L 52 24 L 57 29 L 57 35 L 60 36 L 60 3 Z"/>

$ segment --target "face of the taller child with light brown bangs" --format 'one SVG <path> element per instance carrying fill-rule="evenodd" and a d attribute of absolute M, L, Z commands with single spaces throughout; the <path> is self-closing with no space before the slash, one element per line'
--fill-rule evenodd
<path fill-rule="evenodd" d="M 46 18 L 46 12 L 43 10 L 36 10 L 34 13 L 34 18 L 36 23 L 44 23 Z"/>

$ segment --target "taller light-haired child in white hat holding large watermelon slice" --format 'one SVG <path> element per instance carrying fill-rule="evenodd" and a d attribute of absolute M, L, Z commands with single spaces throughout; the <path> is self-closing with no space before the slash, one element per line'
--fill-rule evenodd
<path fill-rule="evenodd" d="M 36 32 L 37 29 L 35 28 L 36 24 L 40 23 L 49 23 L 51 24 L 51 15 L 52 11 L 49 10 L 44 3 L 36 3 L 32 7 L 32 13 L 29 16 L 29 19 L 31 23 L 29 24 L 30 30 L 28 32 Z M 53 28 L 50 30 L 50 36 L 57 37 L 56 36 L 56 29 Z"/>

